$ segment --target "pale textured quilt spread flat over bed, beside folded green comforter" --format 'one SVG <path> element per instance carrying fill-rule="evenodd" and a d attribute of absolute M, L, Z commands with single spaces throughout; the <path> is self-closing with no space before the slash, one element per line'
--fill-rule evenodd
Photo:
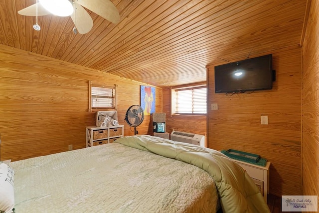
<path fill-rule="evenodd" d="M 119 143 L 10 166 L 15 213 L 215 213 L 219 207 L 204 170 Z"/>

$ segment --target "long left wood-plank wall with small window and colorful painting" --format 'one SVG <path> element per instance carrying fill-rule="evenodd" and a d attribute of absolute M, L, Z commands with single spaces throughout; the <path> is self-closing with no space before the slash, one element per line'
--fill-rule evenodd
<path fill-rule="evenodd" d="M 70 144 L 84 148 L 85 127 L 95 125 L 94 112 L 88 112 L 89 80 L 118 85 L 118 120 L 124 135 L 134 135 L 124 118 L 131 105 L 140 105 L 143 83 L 0 45 L 1 160 L 63 152 Z M 156 110 L 162 110 L 158 87 Z M 146 115 L 138 131 L 151 128 Z"/>

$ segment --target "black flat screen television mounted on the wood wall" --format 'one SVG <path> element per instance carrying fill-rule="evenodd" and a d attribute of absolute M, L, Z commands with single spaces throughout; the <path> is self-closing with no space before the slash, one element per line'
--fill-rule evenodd
<path fill-rule="evenodd" d="M 273 88 L 272 54 L 215 66 L 215 93 Z"/>

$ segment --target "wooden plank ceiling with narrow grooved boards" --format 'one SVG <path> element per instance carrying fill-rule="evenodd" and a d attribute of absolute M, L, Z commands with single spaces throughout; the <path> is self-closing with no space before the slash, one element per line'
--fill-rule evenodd
<path fill-rule="evenodd" d="M 1 0 L 0 43 L 166 87 L 206 80 L 205 66 L 300 44 L 307 0 L 111 0 L 120 22 L 87 9 L 94 25 L 74 34 L 71 18 L 18 10 Z"/>

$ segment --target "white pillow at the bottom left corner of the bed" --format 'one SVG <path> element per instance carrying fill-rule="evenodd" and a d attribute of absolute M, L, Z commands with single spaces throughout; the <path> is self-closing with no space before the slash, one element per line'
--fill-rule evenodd
<path fill-rule="evenodd" d="M 14 171 L 0 162 L 0 212 L 11 213 L 14 207 Z"/>

